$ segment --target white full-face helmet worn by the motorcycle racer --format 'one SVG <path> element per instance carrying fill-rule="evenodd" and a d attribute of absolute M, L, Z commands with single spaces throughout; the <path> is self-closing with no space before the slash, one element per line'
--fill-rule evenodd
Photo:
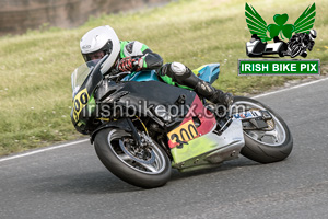
<path fill-rule="evenodd" d="M 106 25 L 95 27 L 84 34 L 80 48 L 85 62 L 92 60 L 92 55 L 98 51 L 104 51 L 104 55 L 108 54 L 108 58 L 102 65 L 102 72 L 107 72 L 119 55 L 120 43 L 115 31 Z"/>

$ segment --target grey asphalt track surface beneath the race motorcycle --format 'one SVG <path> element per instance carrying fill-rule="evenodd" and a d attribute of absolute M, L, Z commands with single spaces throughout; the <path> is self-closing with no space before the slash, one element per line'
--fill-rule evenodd
<path fill-rule="evenodd" d="M 328 218 L 328 80 L 258 96 L 294 138 L 282 162 L 244 157 L 198 172 L 174 171 L 155 189 L 131 186 L 87 141 L 0 158 L 0 218 Z"/>

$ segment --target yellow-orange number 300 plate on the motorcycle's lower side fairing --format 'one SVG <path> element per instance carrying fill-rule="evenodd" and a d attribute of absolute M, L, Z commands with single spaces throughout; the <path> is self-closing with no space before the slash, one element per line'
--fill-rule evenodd
<path fill-rule="evenodd" d="M 173 143 L 187 142 L 198 137 L 198 135 L 199 134 L 197 131 L 194 120 L 189 120 L 167 134 L 168 139 Z"/>

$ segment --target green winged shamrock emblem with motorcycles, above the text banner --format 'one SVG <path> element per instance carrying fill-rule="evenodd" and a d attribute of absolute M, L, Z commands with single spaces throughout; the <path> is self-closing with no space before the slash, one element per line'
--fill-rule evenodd
<path fill-rule="evenodd" d="M 249 57 L 266 57 L 266 55 L 279 55 L 280 57 L 296 56 L 306 57 L 307 50 L 312 50 L 317 37 L 313 30 L 316 15 L 316 4 L 307 9 L 298 16 L 294 24 L 286 24 L 289 15 L 276 14 L 274 24 L 267 24 L 260 14 L 248 3 L 245 4 L 245 16 L 251 38 L 246 43 L 246 54 Z M 294 34 L 293 34 L 294 33 Z M 273 39 L 273 43 L 267 43 Z M 288 39 L 288 42 L 284 42 Z"/>

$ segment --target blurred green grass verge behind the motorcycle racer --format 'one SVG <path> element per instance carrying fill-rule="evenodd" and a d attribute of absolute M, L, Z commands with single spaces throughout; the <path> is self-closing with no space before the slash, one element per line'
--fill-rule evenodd
<path fill-rule="evenodd" d="M 293 23 L 308 1 L 248 2 L 267 21 L 288 13 Z M 318 32 L 309 58 L 328 61 L 328 0 L 316 2 Z M 119 38 L 140 41 L 165 62 L 180 61 L 194 69 L 220 62 L 214 87 L 234 94 L 258 93 L 300 77 L 238 77 L 237 59 L 248 58 L 250 34 L 245 1 L 180 0 L 163 8 L 91 18 L 84 25 L 61 30 L 43 25 L 19 36 L 0 37 L 0 155 L 81 137 L 70 122 L 70 74 L 83 62 L 79 42 L 89 30 L 113 26 Z"/>

